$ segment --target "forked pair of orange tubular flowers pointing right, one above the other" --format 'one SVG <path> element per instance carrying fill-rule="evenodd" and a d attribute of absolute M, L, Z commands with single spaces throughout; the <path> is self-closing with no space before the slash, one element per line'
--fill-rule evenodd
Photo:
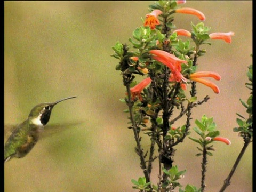
<path fill-rule="evenodd" d="M 211 71 L 200 71 L 200 72 L 190 74 L 189 79 L 196 81 L 198 83 L 202 83 L 202 84 L 210 87 L 214 91 L 214 93 L 220 93 L 220 89 L 217 85 L 215 85 L 211 81 L 209 81 L 207 79 L 203 79 L 201 77 L 212 77 L 215 80 L 219 81 L 221 79 L 219 74 L 211 72 Z"/>

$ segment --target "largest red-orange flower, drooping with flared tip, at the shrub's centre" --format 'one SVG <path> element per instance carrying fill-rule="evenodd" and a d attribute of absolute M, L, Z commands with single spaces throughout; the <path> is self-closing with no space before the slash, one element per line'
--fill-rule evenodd
<path fill-rule="evenodd" d="M 187 63 L 187 61 L 181 60 L 175 57 L 175 55 L 162 50 L 151 50 L 149 51 L 149 53 L 154 54 L 152 56 L 153 59 L 163 63 L 165 66 L 170 68 L 173 74 L 173 79 L 175 79 L 176 82 L 180 82 L 180 81 L 186 82 L 186 78 L 183 77 L 180 71 L 181 71 L 181 63 Z"/>

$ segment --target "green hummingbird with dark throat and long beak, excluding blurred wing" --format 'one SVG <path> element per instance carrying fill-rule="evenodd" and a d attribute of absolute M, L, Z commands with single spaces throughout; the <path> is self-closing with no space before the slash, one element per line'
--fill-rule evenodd
<path fill-rule="evenodd" d="M 44 102 L 36 105 L 30 111 L 28 118 L 19 124 L 7 139 L 4 145 L 4 162 L 9 161 L 13 157 L 25 157 L 36 145 L 39 134 L 49 122 L 53 107 L 61 101 L 76 97 L 68 97 L 53 103 Z"/>

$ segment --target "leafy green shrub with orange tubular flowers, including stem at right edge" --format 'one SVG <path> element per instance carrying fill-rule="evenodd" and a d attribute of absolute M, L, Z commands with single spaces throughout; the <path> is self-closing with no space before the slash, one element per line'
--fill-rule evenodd
<path fill-rule="evenodd" d="M 179 7 L 184 3 L 186 1 L 159 1 L 150 5 L 150 13 L 146 15 L 145 22 L 133 31 L 133 38 L 129 39 L 135 51 L 130 51 L 129 46 L 119 42 L 113 46 L 115 53 L 112 56 L 119 60 L 116 70 L 121 71 L 126 87 L 125 98 L 121 101 L 128 107 L 126 112 L 129 113 L 129 129 L 133 131 L 135 152 L 140 158 L 140 167 L 143 171 L 143 177 L 139 177 L 138 180 L 132 179 L 133 188 L 139 191 L 173 191 L 177 187 L 179 191 L 204 191 L 207 158 L 213 155 L 214 142 L 231 144 L 228 138 L 219 136 L 220 131 L 217 130 L 213 117 L 209 118 L 206 115 L 202 116 L 201 121 L 196 120 L 196 127 L 192 129 L 199 137 L 187 137 L 191 130 L 193 108 L 203 105 L 210 99 L 208 95 L 202 99 L 197 98 L 197 83 L 210 87 L 216 94 L 220 93 L 218 85 L 206 79 L 211 77 L 215 81 L 220 81 L 221 77 L 217 72 L 197 71 L 197 60 L 206 53 L 201 45 L 211 45 L 209 41 L 212 39 L 231 43 L 234 32 L 209 34 L 210 28 L 202 22 L 196 25 L 191 23 L 190 31 L 173 30 L 173 18 L 177 15 L 175 13 L 191 14 L 201 21 L 205 20 L 205 15 L 201 11 Z M 180 35 L 189 39 L 184 42 L 178 38 Z M 252 67 L 247 75 L 249 80 L 251 79 L 247 86 L 252 86 Z M 146 77 L 140 83 L 136 83 L 137 76 Z M 241 101 L 247 108 L 249 118 L 238 114 L 243 120 L 237 119 L 239 127 L 234 129 L 241 134 L 246 146 L 252 141 L 251 101 L 252 93 L 247 104 Z M 179 115 L 174 116 L 174 111 L 178 111 Z M 177 126 L 175 122 L 183 116 L 186 116 L 186 121 Z M 140 145 L 141 133 L 150 138 L 149 151 L 145 152 Z M 202 156 L 202 175 L 199 188 L 188 184 L 183 190 L 179 179 L 186 170 L 179 171 L 178 166 L 173 165 L 173 159 L 175 146 L 187 138 L 199 145 L 199 153 L 196 156 Z M 152 183 L 150 180 L 154 161 L 159 162 L 158 183 Z M 221 191 L 230 184 L 230 178 L 229 175 Z"/>

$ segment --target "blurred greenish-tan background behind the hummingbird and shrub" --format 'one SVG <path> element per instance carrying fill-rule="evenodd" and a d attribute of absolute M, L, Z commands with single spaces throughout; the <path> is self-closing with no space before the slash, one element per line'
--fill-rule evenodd
<path fill-rule="evenodd" d="M 149 1 L 5 1 L 4 2 L 4 123 L 25 120 L 35 105 L 59 103 L 49 124 L 76 123 L 39 141 L 21 159 L 4 165 L 5 191 L 135 191 L 131 179 L 143 175 L 134 153 L 133 133 L 122 113 L 126 106 L 122 77 L 111 46 L 129 44 L 132 31 L 142 25 Z M 252 63 L 252 1 L 187 1 L 205 14 L 210 33 L 234 31 L 232 43 L 211 41 L 198 70 L 222 77 L 220 94 L 198 85 L 198 98 L 210 101 L 194 109 L 193 124 L 203 114 L 214 117 L 222 137 L 207 165 L 207 191 L 218 191 L 233 166 L 243 140 L 232 131 L 236 112 L 245 114 L 239 98 L 249 90 L 247 66 Z M 190 30 L 194 15 L 176 13 L 177 28 Z M 202 88 L 202 89 L 200 89 Z M 194 134 L 192 134 L 193 136 Z M 195 135 L 194 135 L 195 136 Z M 144 138 L 144 137 L 143 137 Z M 143 148 L 149 142 L 143 139 Z M 174 164 L 187 170 L 181 184 L 200 186 L 201 158 L 187 139 L 177 147 Z M 157 164 L 153 182 L 157 182 Z M 252 191 L 252 145 L 247 149 L 226 191 Z"/>

